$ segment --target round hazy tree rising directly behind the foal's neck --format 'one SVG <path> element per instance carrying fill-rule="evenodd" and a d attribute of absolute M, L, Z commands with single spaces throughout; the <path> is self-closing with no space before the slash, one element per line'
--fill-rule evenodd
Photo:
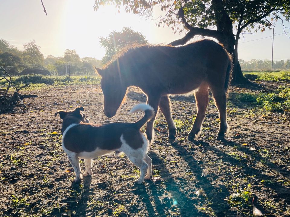
<path fill-rule="evenodd" d="M 101 37 L 100 44 L 106 49 L 105 56 L 101 60 L 102 64 L 106 64 L 124 47 L 134 44 L 147 44 L 147 40 L 140 32 L 136 32 L 130 27 L 123 27 L 119 32 L 110 32 L 108 37 Z"/>

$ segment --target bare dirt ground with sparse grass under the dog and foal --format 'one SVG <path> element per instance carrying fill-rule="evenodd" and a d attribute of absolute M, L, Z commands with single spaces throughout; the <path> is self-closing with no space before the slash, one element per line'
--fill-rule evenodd
<path fill-rule="evenodd" d="M 230 91 L 253 93 L 279 85 L 259 84 Z M 211 101 L 201 136 L 190 142 L 186 134 L 196 114 L 194 96 L 172 97 L 177 140 L 166 143 L 167 126 L 159 112 L 149 152 L 153 175 L 162 182 L 134 185 L 138 169 L 125 156 L 102 156 L 94 160 L 92 178 L 76 186 L 55 111 L 83 105 L 91 122 L 136 121 L 143 113 L 127 112 L 146 102 L 146 96 L 130 88 L 109 119 L 102 112 L 98 85 L 27 93 L 40 97 L 27 99 L 27 109 L 0 116 L 0 216 L 253 216 L 253 197 L 265 216 L 290 215 L 289 115 L 259 115 L 249 104 L 230 101 L 231 131 L 228 142 L 221 142 L 214 139 L 219 120 Z M 238 211 L 231 211 L 232 206 Z"/>

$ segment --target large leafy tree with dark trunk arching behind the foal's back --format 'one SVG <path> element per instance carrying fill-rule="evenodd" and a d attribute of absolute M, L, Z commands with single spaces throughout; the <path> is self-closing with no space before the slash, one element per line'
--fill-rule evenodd
<path fill-rule="evenodd" d="M 240 34 L 263 32 L 279 19 L 290 19 L 289 0 L 95 0 L 94 9 L 108 3 L 115 4 L 116 8 L 124 5 L 126 12 L 145 16 L 151 15 L 153 7 L 158 5 L 165 11 L 157 20 L 158 26 L 187 32 L 182 39 L 170 43 L 172 46 L 184 45 L 196 35 L 217 39 L 233 56 L 234 83 L 246 81 L 238 61 Z"/>

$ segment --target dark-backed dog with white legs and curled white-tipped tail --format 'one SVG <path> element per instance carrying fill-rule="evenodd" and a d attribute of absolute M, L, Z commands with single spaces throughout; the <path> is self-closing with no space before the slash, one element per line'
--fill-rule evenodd
<path fill-rule="evenodd" d="M 76 178 L 73 183 L 82 179 L 79 159 L 85 161 L 84 176 L 92 175 L 92 159 L 111 152 L 115 156 L 124 153 L 128 159 L 140 168 L 140 177 L 134 183 L 141 184 L 144 179 L 152 178 L 152 160 L 147 155 L 149 141 L 140 128 L 154 116 L 150 105 L 138 104 L 130 114 L 144 111 L 145 116 L 135 123 L 91 124 L 83 113 L 84 107 L 79 106 L 71 111 L 57 111 L 63 119 L 61 133 L 63 150 L 66 152 Z M 147 171 L 147 175 L 145 176 Z"/>

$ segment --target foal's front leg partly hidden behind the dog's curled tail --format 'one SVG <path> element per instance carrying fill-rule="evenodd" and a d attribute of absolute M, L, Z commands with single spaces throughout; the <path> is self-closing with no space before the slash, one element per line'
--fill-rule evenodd
<path fill-rule="evenodd" d="M 160 101 L 160 97 L 161 95 L 157 95 L 157 94 L 154 94 L 155 96 L 147 96 L 147 104 L 150 105 L 153 109 L 154 109 L 154 112 L 155 112 L 155 115 L 152 119 L 150 119 L 147 124 L 146 124 L 146 135 L 147 135 L 147 139 L 149 140 L 150 143 L 153 143 L 154 141 L 154 135 L 155 135 L 155 132 L 153 130 L 153 124 L 154 124 L 154 121 L 155 121 L 155 118 L 156 118 L 156 115 L 157 115 L 157 112 L 158 112 L 158 105 L 159 105 L 159 101 Z"/>

